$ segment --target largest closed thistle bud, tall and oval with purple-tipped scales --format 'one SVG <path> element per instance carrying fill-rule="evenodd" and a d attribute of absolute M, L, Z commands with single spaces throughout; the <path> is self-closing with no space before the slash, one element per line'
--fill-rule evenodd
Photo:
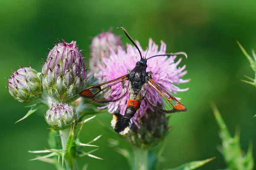
<path fill-rule="evenodd" d="M 43 88 L 56 100 L 73 102 L 85 88 L 87 69 L 76 41 L 56 43 L 42 68 Z"/>

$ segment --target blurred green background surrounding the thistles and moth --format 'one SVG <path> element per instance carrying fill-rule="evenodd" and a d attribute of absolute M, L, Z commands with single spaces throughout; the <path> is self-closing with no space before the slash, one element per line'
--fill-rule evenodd
<path fill-rule="evenodd" d="M 249 141 L 256 147 L 256 89 L 240 80 L 244 75 L 253 77 L 253 71 L 236 44 L 239 40 L 249 54 L 251 48 L 256 49 L 255 7 L 255 0 L 0 0 L 1 169 L 54 169 L 51 164 L 28 161 L 35 157 L 28 150 L 48 147 L 46 110 L 14 124 L 29 110 L 24 108 L 29 104 L 15 101 L 4 88 L 4 78 L 10 77 L 11 69 L 29 66 L 30 62 L 41 71 L 39 62 L 46 59 L 47 48 L 52 48 L 57 38 L 76 40 L 88 57 L 90 37 L 120 25 L 142 47 L 152 37 L 158 44 L 160 40 L 166 42 L 168 52 L 188 54 L 180 65 L 187 65 L 184 78 L 191 81 L 179 87 L 190 89 L 177 94 L 188 111 L 170 118 L 174 130 L 167 136 L 163 152 L 168 161 L 159 169 L 213 156 L 216 159 L 200 170 L 225 168 L 216 149 L 221 141 L 209 101 L 216 103 L 232 135 L 236 127 L 240 128 L 243 150 Z M 121 30 L 113 31 L 128 42 Z M 110 125 L 110 114 L 96 118 Z M 108 133 L 96 120 L 87 123 L 81 134 L 82 142 L 103 134 L 95 142 L 100 149 L 94 154 L 104 160 L 84 157 L 79 159 L 80 168 L 88 163 L 90 170 L 129 169 L 126 159 L 108 146 Z"/>

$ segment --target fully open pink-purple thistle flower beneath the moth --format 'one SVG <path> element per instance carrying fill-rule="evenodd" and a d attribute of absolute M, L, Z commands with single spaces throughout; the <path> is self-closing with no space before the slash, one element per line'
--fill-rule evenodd
<path fill-rule="evenodd" d="M 146 58 L 158 54 L 166 54 L 166 44 L 163 41 L 161 41 L 160 50 L 158 49 L 158 45 L 156 45 L 152 39 L 149 39 L 148 49 L 145 51 L 141 48 L 138 41 L 136 41 L 136 43 L 140 48 L 142 56 L 147 55 Z M 117 48 L 117 52 L 112 48 L 110 48 L 110 51 L 111 54 L 109 57 L 102 56 L 102 63 L 104 64 L 101 62 L 98 63 L 99 72 L 96 75 L 96 78 L 99 79 L 99 82 L 110 81 L 127 74 L 127 68 L 132 70 L 135 67 L 136 62 L 140 61 L 140 54 L 132 45 L 127 44 L 127 51 L 120 46 Z M 175 59 L 176 56 L 154 57 L 149 59 L 147 62 L 147 71 L 152 72 L 152 79 L 154 82 L 172 94 L 177 94 L 179 91 L 187 91 L 189 89 L 180 89 L 176 86 L 180 83 L 189 82 L 189 79 L 181 79 L 181 77 L 187 73 L 187 71 L 184 71 L 186 65 L 183 65 L 181 68 L 177 68 L 177 65 L 181 62 L 181 58 L 178 59 L 177 62 L 175 62 Z M 147 89 L 147 87 L 145 88 Z M 145 97 L 148 98 L 148 94 Z M 157 99 L 154 100 L 157 101 Z M 111 102 L 102 108 L 108 108 L 110 113 L 118 112 L 120 114 L 124 114 L 127 101 L 128 95 L 118 102 Z M 137 120 L 144 116 L 147 109 L 154 111 L 154 109 L 144 99 L 140 105 L 140 109 L 132 118 L 133 122 L 137 126 Z"/>

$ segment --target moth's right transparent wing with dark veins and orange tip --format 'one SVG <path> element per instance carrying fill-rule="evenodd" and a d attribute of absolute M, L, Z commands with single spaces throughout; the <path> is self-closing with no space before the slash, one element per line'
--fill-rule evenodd
<path fill-rule="evenodd" d="M 147 81 L 146 101 L 154 108 L 164 113 L 185 112 L 186 107 L 174 96 L 167 93 L 151 78 Z"/>

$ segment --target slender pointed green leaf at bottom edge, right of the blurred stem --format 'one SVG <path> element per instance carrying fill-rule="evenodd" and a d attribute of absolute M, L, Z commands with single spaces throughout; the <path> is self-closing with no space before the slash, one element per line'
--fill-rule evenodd
<path fill-rule="evenodd" d="M 205 160 L 202 160 L 202 161 L 192 161 L 192 162 L 183 164 L 180 167 L 167 169 L 167 170 L 194 170 L 198 167 L 203 166 L 204 164 L 208 163 L 209 161 L 212 161 L 213 159 L 215 159 L 215 157 L 210 158 L 210 159 L 205 159 Z"/>

